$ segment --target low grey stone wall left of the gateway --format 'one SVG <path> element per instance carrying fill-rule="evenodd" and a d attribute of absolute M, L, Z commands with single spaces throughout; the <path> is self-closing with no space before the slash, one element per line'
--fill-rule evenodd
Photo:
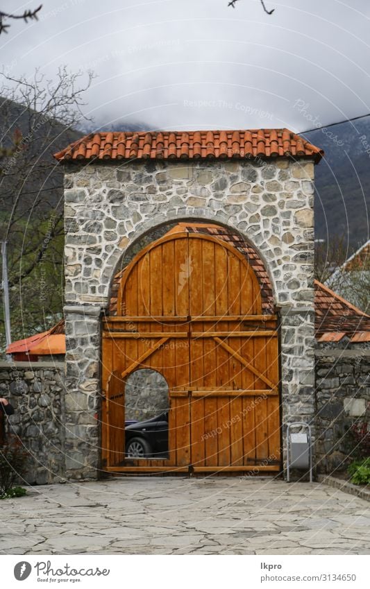
<path fill-rule="evenodd" d="M 30 484 L 65 477 L 64 393 L 64 364 L 0 362 L 0 397 L 15 408 L 8 436 L 17 436 L 29 452 L 24 478 Z"/>

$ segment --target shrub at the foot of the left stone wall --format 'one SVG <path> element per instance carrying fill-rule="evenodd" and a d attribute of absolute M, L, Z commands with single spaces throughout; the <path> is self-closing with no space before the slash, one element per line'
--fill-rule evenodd
<path fill-rule="evenodd" d="M 16 438 L 10 437 L 0 446 L 0 497 L 8 497 L 17 477 L 26 466 L 27 453 Z M 19 489 L 16 487 L 15 489 Z M 15 493 L 19 491 L 15 490 Z M 13 495 L 17 497 L 19 495 Z"/>

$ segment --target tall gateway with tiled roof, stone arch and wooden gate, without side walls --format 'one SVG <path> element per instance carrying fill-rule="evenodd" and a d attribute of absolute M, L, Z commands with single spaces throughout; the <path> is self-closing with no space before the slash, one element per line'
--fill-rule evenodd
<path fill-rule="evenodd" d="M 286 129 L 100 133 L 56 154 L 65 166 L 67 477 L 280 470 L 282 425 L 312 422 L 315 411 L 321 155 Z M 217 235 L 169 234 L 194 221 L 237 235 L 247 253 Z M 161 346 L 174 342 L 183 347 L 166 354 Z M 169 456 L 155 462 L 128 459 L 124 447 L 124 382 L 148 367 L 169 386 Z M 219 429 L 215 446 L 207 436 Z"/>

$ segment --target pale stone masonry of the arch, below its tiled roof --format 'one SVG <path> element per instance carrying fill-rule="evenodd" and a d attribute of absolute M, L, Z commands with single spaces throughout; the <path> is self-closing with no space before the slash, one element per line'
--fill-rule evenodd
<path fill-rule="evenodd" d="M 100 314 L 112 277 L 128 248 L 174 221 L 235 228 L 258 250 L 281 308 L 283 421 L 313 422 L 313 178 L 312 162 L 283 157 L 66 165 L 68 445 L 83 450 L 69 477 L 99 468 Z"/>

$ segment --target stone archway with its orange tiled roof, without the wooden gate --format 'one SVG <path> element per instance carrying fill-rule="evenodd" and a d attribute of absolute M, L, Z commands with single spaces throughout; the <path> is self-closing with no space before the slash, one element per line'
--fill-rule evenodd
<path fill-rule="evenodd" d="M 314 425 L 313 179 L 321 155 L 286 129 L 101 133 L 56 155 L 65 164 L 69 479 L 96 479 L 101 468 L 101 318 L 117 307 L 119 260 L 185 219 L 232 228 L 258 248 L 281 320 L 283 427 Z"/>

